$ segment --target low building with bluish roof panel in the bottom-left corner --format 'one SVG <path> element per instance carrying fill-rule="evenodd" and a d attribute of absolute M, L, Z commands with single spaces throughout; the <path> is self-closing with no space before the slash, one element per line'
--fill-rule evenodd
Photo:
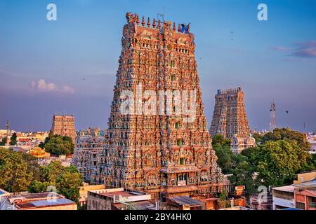
<path fill-rule="evenodd" d="M 15 193 L 6 197 L 6 210 L 77 210 L 77 204 L 57 193 Z"/>

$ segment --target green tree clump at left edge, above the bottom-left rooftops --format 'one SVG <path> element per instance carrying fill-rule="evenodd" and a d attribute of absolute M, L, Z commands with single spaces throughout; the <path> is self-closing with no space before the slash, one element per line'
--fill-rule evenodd
<path fill-rule="evenodd" d="M 41 193 L 55 186 L 57 193 L 78 202 L 81 182 L 74 166 L 63 167 L 60 161 L 53 161 L 41 167 L 32 155 L 0 147 L 0 188 L 8 192 Z"/>

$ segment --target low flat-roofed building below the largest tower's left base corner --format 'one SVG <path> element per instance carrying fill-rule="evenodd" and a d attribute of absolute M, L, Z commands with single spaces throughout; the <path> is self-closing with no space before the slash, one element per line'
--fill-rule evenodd
<path fill-rule="evenodd" d="M 151 196 L 134 190 L 112 188 L 88 191 L 88 210 L 152 210 Z"/>

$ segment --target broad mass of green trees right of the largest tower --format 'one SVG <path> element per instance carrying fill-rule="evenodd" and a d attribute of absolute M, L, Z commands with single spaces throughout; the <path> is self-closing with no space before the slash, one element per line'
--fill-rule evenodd
<path fill-rule="evenodd" d="M 232 184 L 244 185 L 246 190 L 258 185 L 284 186 L 293 183 L 295 174 L 315 170 L 316 155 L 308 153 L 310 145 L 304 134 L 284 128 L 255 138 L 261 144 L 239 155 L 234 155 L 220 137 L 213 141 L 218 166 L 224 174 L 233 174 Z"/>

